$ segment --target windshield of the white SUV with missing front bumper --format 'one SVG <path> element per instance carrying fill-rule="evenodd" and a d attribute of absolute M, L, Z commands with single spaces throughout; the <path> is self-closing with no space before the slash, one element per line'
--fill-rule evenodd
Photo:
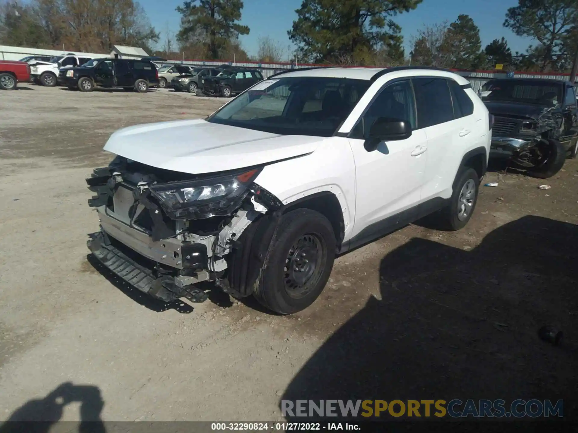
<path fill-rule="evenodd" d="M 368 80 L 292 77 L 261 81 L 209 122 L 282 135 L 329 137 L 371 84 Z"/>

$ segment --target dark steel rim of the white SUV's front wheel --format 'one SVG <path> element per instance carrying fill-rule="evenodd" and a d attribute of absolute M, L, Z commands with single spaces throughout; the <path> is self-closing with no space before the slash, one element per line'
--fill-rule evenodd
<path fill-rule="evenodd" d="M 293 242 L 283 267 L 283 285 L 289 296 L 301 298 L 314 288 L 323 272 L 324 250 L 317 233 L 303 234 Z"/>

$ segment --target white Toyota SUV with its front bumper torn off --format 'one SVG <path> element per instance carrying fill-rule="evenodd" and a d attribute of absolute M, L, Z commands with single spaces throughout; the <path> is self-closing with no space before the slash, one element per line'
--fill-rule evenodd
<path fill-rule="evenodd" d="M 132 126 L 87 179 L 105 266 L 165 301 L 198 283 L 308 307 L 334 258 L 438 211 L 464 227 L 490 151 L 464 78 L 427 68 L 312 68 L 255 84 L 205 120 Z"/>

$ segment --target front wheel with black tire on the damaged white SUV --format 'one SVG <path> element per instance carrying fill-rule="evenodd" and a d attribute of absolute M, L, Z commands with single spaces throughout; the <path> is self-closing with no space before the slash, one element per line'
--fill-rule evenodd
<path fill-rule="evenodd" d="M 335 233 L 327 218 L 309 209 L 288 212 L 281 216 L 253 295 L 277 313 L 301 311 L 323 291 L 334 259 Z"/>

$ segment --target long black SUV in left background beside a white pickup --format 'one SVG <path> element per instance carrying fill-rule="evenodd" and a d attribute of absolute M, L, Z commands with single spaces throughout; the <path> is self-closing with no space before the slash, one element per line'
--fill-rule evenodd
<path fill-rule="evenodd" d="M 143 93 L 158 85 L 158 71 L 149 60 L 103 58 L 93 59 L 80 68 L 61 70 L 58 81 L 82 92 L 91 92 L 98 86 Z"/>

